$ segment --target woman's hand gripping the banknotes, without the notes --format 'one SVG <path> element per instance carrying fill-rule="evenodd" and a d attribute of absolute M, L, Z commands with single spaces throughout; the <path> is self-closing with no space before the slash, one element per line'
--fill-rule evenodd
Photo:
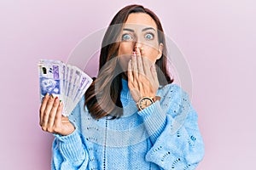
<path fill-rule="evenodd" d="M 45 132 L 68 135 L 73 133 L 75 127 L 68 120 L 67 116 L 62 116 L 63 103 L 60 99 L 46 94 L 40 107 L 40 126 Z"/>

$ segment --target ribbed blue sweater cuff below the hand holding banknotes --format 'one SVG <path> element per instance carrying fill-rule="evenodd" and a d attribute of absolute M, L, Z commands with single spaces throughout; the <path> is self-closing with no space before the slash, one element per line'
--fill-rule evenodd
<path fill-rule="evenodd" d="M 56 147 L 61 151 L 61 155 L 65 159 L 73 161 L 81 161 L 84 159 L 84 147 L 77 129 L 67 136 L 60 134 L 54 134 L 54 136 L 57 142 Z"/>

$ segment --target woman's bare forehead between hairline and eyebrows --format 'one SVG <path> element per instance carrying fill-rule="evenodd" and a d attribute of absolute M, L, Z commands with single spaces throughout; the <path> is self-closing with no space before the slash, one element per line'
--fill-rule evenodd
<path fill-rule="evenodd" d="M 155 30 L 157 30 L 157 26 L 154 22 L 154 20 L 151 18 L 149 14 L 144 13 L 132 13 L 129 14 L 125 26 L 139 26 L 139 27 L 153 27 Z"/>

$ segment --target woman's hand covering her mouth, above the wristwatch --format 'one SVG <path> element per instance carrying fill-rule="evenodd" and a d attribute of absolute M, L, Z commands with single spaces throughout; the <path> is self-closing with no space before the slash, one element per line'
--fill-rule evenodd
<path fill-rule="evenodd" d="M 143 97 L 155 97 L 159 82 L 154 63 L 142 57 L 139 48 L 131 55 L 128 64 L 128 87 L 135 102 Z"/>

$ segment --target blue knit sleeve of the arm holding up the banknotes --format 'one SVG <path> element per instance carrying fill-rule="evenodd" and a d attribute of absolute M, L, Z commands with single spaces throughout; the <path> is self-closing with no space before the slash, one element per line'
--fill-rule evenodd
<path fill-rule="evenodd" d="M 73 110 L 69 120 L 73 122 L 73 114 L 80 113 L 80 105 Z M 88 164 L 88 152 L 84 139 L 79 133 L 79 122 L 73 122 L 75 131 L 67 136 L 54 134 L 55 139 L 52 144 L 52 170 L 84 170 Z"/>

